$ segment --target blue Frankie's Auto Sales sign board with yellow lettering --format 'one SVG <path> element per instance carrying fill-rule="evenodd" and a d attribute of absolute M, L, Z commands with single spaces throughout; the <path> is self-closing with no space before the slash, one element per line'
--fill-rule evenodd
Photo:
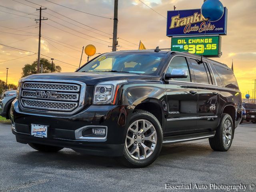
<path fill-rule="evenodd" d="M 208 22 L 201 14 L 200 9 L 177 10 L 167 12 L 166 35 L 204 35 L 206 34 L 227 34 L 227 13 L 224 8 L 224 14 L 216 22 Z"/>

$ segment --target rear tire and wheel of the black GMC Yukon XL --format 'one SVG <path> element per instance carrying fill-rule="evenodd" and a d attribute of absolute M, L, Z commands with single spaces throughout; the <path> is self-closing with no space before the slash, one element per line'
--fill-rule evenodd
<path fill-rule="evenodd" d="M 228 128 L 225 130 L 227 125 L 228 125 Z M 225 138 L 224 138 L 224 135 L 225 135 Z M 233 138 L 234 138 L 233 120 L 229 114 L 224 113 L 222 114 L 220 125 L 216 129 L 215 136 L 213 138 L 209 138 L 210 146 L 215 151 L 227 151 L 232 144 Z"/>

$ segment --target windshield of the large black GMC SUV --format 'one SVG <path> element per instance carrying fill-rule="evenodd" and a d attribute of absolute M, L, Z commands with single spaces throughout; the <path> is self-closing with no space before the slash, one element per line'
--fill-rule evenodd
<path fill-rule="evenodd" d="M 102 54 L 78 72 L 126 72 L 140 75 L 155 75 L 160 67 L 164 53 L 115 52 Z"/>

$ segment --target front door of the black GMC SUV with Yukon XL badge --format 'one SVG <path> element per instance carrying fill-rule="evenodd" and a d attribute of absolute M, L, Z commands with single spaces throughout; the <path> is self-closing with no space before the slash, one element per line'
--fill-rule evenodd
<path fill-rule="evenodd" d="M 174 56 L 166 73 L 170 73 L 172 69 L 187 70 L 188 77 L 166 81 L 168 117 L 165 132 L 183 134 L 196 128 L 197 87 L 191 82 L 186 57 Z"/>

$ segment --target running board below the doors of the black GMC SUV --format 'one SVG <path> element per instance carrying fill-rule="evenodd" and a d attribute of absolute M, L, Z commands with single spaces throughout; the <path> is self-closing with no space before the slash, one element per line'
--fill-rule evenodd
<path fill-rule="evenodd" d="M 164 137 L 163 143 L 180 143 L 180 142 L 186 142 L 186 141 L 212 138 L 214 136 L 215 136 L 215 131 L 188 134 L 188 135 L 179 135 L 179 136 L 169 136 L 169 137 Z"/>

